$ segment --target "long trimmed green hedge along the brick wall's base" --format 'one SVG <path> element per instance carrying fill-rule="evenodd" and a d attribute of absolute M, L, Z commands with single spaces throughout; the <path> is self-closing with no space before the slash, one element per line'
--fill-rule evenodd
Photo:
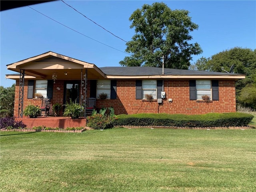
<path fill-rule="evenodd" d="M 246 113 L 118 115 L 116 126 L 229 127 L 246 126 L 254 118 Z"/>

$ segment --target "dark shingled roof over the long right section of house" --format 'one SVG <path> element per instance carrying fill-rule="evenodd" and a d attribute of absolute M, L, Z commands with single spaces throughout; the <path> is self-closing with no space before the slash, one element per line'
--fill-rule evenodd
<path fill-rule="evenodd" d="M 210 72 L 210 71 L 193 71 L 182 69 L 162 68 L 159 67 L 100 67 L 100 70 L 106 75 L 118 76 L 148 76 L 148 75 L 234 75 L 234 73 Z M 237 75 L 237 74 L 235 74 Z"/>

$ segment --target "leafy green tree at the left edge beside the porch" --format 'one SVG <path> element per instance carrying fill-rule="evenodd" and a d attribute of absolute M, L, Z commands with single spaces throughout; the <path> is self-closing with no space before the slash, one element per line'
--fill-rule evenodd
<path fill-rule="evenodd" d="M 0 116 L 13 116 L 15 84 L 4 88 L 0 86 Z"/>

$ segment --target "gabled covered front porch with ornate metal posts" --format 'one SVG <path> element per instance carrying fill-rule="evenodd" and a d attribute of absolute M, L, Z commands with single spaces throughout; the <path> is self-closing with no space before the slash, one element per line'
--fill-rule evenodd
<path fill-rule="evenodd" d="M 46 52 L 10 64 L 7 68 L 18 72 L 18 74 L 6 75 L 7 78 L 16 80 L 14 116 L 24 118 L 23 121 L 29 123 L 40 120 L 47 121 L 44 120 L 44 116 L 29 120 L 23 115 L 24 108 L 30 104 L 42 106 L 42 99 L 36 98 L 36 93 L 41 92 L 44 98 L 50 99 L 52 106 L 61 104 L 62 109 L 59 116 L 62 116 L 65 104 L 70 102 L 79 103 L 86 108 L 88 98 L 91 97 L 90 81 L 88 79 L 105 78 L 105 74 L 96 65 L 54 52 Z M 80 117 L 83 117 L 86 121 L 86 116 L 87 111 L 84 110 Z M 48 118 L 51 118 L 51 121 L 54 122 L 52 126 L 66 125 L 71 120 L 71 118 L 69 120 L 68 118 L 54 116 L 48 116 Z M 74 122 L 76 121 L 82 122 L 80 119 L 74 120 Z"/>

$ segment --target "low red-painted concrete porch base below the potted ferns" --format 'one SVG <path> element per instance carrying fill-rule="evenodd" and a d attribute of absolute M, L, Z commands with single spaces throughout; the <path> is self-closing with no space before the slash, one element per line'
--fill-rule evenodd
<path fill-rule="evenodd" d="M 15 118 L 16 121 L 22 121 L 26 124 L 27 128 L 34 126 L 46 126 L 52 128 L 67 128 L 67 127 L 85 127 L 86 118 L 72 119 L 68 117 L 53 117 L 53 116 L 40 116 L 37 118 Z"/>

